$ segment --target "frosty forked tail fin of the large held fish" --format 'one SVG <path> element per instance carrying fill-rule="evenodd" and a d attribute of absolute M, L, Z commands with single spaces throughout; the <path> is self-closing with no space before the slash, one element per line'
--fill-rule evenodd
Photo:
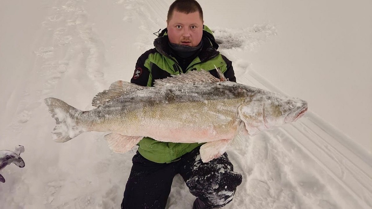
<path fill-rule="evenodd" d="M 83 111 L 53 97 L 45 99 L 44 102 L 48 106 L 52 118 L 55 119 L 56 126 L 52 131 L 55 142 L 67 142 L 77 135 L 86 132 L 77 123 Z"/>

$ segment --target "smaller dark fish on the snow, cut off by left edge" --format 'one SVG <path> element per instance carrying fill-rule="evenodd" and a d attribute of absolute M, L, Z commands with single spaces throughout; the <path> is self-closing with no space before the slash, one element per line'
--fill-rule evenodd
<path fill-rule="evenodd" d="M 14 163 L 20 168 L 25 167 L 25 162 L 19 156 L 22 152 L 25 151 L 25 148 L 21 145 L 18 145 L 15 148 L 15 151 L 9 150 L 0 150 L 0 171 L 5 168 L 7 165 Z M 0 182 L 5 183 L 4 177 L 0 174 Z"/>

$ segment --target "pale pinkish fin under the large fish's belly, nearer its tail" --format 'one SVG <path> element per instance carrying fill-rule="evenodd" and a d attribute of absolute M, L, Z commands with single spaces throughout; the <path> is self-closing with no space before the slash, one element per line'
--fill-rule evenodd
<path fill-rule="evenodd" d="M 132 149 L 132 147 L 134 147 L 143 138 L 143 136 L 126 136 L 111 133 L 105 135 L 104 138 L 112 151 L 124 153 Z"/>

